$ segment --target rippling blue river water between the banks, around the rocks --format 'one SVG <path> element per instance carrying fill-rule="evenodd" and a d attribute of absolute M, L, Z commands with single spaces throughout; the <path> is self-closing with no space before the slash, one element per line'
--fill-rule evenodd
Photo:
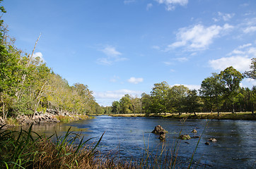
<path fill-rule="evenodd" d="M 161 125 L 166 134 L 165 142 L 151 131 L 156 125 Z M 124 118 L 107 115 L 97 116 L 90 120 L 55 125 L 35 125 L 36 132 L 46 135 L 64 135 L 71 127 L 76 133 L 81 133 L 86 139 L 97 142 L 105 132 L 99 149 L 104 153 L 116 151 L 119 158 L 139 160 L 145 153 L 144 149 L 154 154 L 165 147 L 174 149 L 179 133 L 190 134 L 190 137 L 200 136 L 206 126 L 206 120 L 186 120 L 167 118 Z M 193 159 L 193 168 L 256 168 L 256 123 L 247 120 L 208 120 L 206 130 L 197 147 Z M 191 131 L 197 130 L 194 134 Z M 209 138 L 217 142 L 205 145 Z M 197 146 L 197 139 L 178 140 L 178 166 L 187 168 L 192 153 Z M 165 151 L 167 152 L 167 151 Z M 170 156 L 170 153 L 169 155 Z"/>

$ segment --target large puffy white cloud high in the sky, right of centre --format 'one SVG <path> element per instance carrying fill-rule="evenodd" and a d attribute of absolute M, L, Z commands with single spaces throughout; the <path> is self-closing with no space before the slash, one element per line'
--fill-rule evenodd
<path fill-rule="evenodd" d="M 231 30 L 233 26 L 225 24 L 223 27 L 219 25 L 211 25 L 204 27 L 198 24 L 193 27 L 182 27 L 176 34 L 177 42 L 168 45 L 166 51 L 178 47 L 185 46 L 187 49 L 206 49 L 213 39 L 219 37 L 223 32 Z"/>

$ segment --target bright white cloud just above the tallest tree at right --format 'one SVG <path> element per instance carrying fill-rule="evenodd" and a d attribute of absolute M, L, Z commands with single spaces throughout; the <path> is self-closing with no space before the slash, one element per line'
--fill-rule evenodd
<path fill-rule="evenodd" d="M 248 70 L 250 63 L 251 59 L 243 56 L 223 57 L 209 61 L 209 65 L 211 68 L 214 68 L 214 70 L 225 70 L 226 68 L 233 66 L 233 68 L 240 72 Z"/>

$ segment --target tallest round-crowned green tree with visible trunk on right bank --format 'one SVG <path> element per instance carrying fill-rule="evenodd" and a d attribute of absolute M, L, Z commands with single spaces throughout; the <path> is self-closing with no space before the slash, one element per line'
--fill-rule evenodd
<path fill-rule="evenodd" d="M 221 71 L 220 76 L 221 81 L 225 84 L 226 97 L 232 104 L 232 113 L 235 113 L 235 96 L 238 95 L 239 84 L 243 80 L 243 75 L 231 66 Z"/>

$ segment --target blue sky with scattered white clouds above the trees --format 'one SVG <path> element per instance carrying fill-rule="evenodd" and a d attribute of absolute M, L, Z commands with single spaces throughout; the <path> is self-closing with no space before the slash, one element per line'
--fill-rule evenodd
<path fill-rule="evenodd" d="M 228 66 L 256 56 L 256 1 L 4 0 L 16 46 L 54 73 L 87 84 L 101 106 L 150 93 L 166 81 L 199 89 Z M 252 87 L 253 80 L 241 86 Z"/>

